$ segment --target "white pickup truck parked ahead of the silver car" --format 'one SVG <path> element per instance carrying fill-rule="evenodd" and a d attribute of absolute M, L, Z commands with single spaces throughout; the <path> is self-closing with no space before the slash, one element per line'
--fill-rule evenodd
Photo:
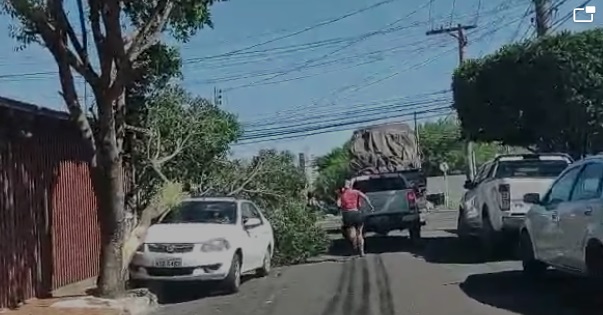
<path fill-rule="evenodd" d="M 479 240 L 486 257 L 508 250 L 531 205 L 528 193 L 543 194 L 570 164 L 566 154 L 504 154 L 483 164 L 474 181 L 465 182 L 459 206 L 457 233 L 463 240 Z"/>

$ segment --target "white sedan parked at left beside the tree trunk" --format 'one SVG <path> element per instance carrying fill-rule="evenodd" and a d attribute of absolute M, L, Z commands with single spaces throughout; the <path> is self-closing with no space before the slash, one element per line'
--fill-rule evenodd
<path fill-rule="evenodd" d="M 139 285 L 220 282 L 237 292 L 242 273 L 269 273 L 273 250 L 272 226 L 251 201 L 192 198 L 149 228 L 130 278 Z"/>

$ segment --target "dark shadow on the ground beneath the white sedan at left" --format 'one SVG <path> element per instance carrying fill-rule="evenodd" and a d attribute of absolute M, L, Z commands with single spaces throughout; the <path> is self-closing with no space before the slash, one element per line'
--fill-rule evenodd
<path fill-rule="evenodd" d="M 255 279 L 252 275 L 241 277 L 241 285 Z M 229 295 L 219 283 L 152 283 L 149 290 L 157 296 L 159 304 L 180 304 L 210 297 Z"/>

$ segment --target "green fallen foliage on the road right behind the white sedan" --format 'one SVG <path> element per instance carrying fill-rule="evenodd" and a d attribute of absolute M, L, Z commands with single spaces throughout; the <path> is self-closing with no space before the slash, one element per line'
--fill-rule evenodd
<path fill-rule="evenodd" d="M 251 161 L 234 161 L 207 182 L 214 190 L 248 198 L 260 205 L 274 227 L 275 263 L 296 264 L 323 253 L 326 234 L 306 208 L 304 173 L 291 152 L 262 150 Z M 218 188 L 220 187 L 221 188 Z"/>

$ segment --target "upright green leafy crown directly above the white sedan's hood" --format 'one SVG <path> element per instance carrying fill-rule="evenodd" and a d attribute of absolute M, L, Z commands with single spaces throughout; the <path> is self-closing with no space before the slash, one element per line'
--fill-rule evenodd
<path fill-rule="evenodd" d="M 151 167 L 155 160 L 176 153 L 161 165 L 161 171 L 172 181 L 197 185 L 220 168 L 216 163 L 240 135 L 234 115 L 180 87 L 168 87 L 149 100 L 141 125 L 151 135 L 134 140 L 132 150 L 142 207 L 161 183 Z"/>

